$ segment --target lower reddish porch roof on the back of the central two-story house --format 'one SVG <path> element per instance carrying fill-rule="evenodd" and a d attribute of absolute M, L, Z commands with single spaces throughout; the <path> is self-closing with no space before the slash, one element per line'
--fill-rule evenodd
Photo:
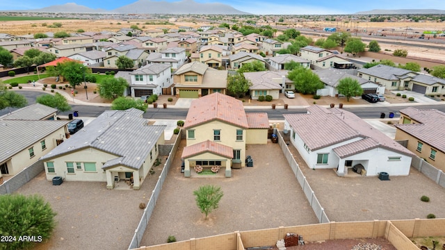
<path fill-rule="evenodd" d="M 234 151 L 232 147 L 207 140 L 185 147 L 182 151 L 181 159 L 196 156 L 201 153 L 214 153 L 218 156 L 223 156 L 229 159 L 234 158 Z"/>

